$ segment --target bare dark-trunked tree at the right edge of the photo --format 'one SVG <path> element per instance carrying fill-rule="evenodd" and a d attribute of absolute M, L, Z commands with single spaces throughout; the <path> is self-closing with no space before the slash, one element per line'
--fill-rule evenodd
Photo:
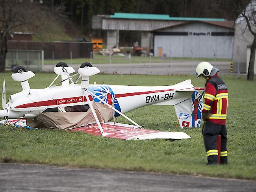
<path fill-rule="evenodd" d="M 254 78 L 254 63 L 256 53 L 256 0 L 251 0 L 245 8 L 242 9 L 241 15 L 238 17 L 239 22 L 246 22 L 245 30 L 249 30 L 253 35 L 253 41 L 250 47 L 250 61 L 247 73 L 247 80 L 252 81 Z"/>

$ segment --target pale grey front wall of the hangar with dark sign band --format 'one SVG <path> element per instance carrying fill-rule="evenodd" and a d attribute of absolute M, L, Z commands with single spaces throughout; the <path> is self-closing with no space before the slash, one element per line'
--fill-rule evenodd
<path fill-rule="evenodd" d="M 234 36 L 211 36 L 211 32 L 228 31 L 234 30 L 200 22 L 159 30 L 157 32 L 192 32 L 192 35 L 155 35 L 154 53 L 158 56 L 158 47 L 162 47 L 162 54 L 168 57 L 214 58 L 215 52 L 217 58 L 231 59 Z M 206 35 L 194 35 L 194 33 L 206 33 Z"/>

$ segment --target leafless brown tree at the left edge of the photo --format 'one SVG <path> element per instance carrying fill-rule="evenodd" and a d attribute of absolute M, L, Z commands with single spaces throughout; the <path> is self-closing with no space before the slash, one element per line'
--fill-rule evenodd
<path fill-rule="evenodd" d="M 41 30 L 45 8 L 40 1 L 0 0 L 0 72 L 5 71 L 7 40 L 15 30 Z M 44 8 L 44 9 L 43 9 Z"/>

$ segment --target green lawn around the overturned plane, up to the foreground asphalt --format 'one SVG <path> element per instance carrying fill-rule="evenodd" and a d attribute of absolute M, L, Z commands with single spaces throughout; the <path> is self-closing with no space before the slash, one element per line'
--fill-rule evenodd
<path fill-rule="evenodd" d="M 7 98 L 21 90 L 20 83 L 6 79 Z M 95 75 L 91 83 L 120 85 L 172 85 L 188 78 L 195 86 L 204 86 L 194 76 Z M 30 87 L 42 88 L 54 79 L 53 74 L 39 73 L 30 79 Z M 256 81 L 245 77 L 223 76 L 229 89 L 228 164 L 206 166 L 206 153 L 200 128 L 177 128 L 191 136 L 186 140 L 123 141 L 84 133 L 41 129 L 22 133 L 0 126 L 0 162 L 48 164 L 83 168 L 136 170 L 189 175 L 206 175 L 256 180 Z M 2 90 L 2 83 L 0 89 Z M 127 113 L 148 129 L 172 131 L 177 118 L 170 106 L 148 106 Z M 128 123 L 121 117 L 117 122 Z"/>

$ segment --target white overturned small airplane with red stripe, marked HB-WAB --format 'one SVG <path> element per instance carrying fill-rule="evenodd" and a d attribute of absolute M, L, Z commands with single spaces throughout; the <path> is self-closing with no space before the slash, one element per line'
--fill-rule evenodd
<path fill-rule="evenodd" d="M 29 127 L 83 131 L 125 140 L 190 138 L 182 132 L 144 129 L 124 114 L 147 105 L 174 105 L 180 127 L 200 127 L 203 103 L 199 91 L 205 89 L 194 87 L 190 79 L 170 86 L 89 85 L 89 77 L 100 72 L 90 63 L 83 63 L 78 73 L 70 76 L 74 68 L 59 62 L 54 72 L 57 76 L 48 87 L 31 89 L 28 79 L 35 74 L 22 66 L 15 68 L 11 78 L 21 83 L 22 91 L 9 96 L 6 104 L 4 81 L 0 118 L 6 119 L 5 124 L 16 125 L 21 119 Z M 59 76 L 61 81 L 55 83 Z M 81 85 L 77 84 L 80 78 Z M 133 125 L 116 123 L 115 117 L 120 115 Z"/>

